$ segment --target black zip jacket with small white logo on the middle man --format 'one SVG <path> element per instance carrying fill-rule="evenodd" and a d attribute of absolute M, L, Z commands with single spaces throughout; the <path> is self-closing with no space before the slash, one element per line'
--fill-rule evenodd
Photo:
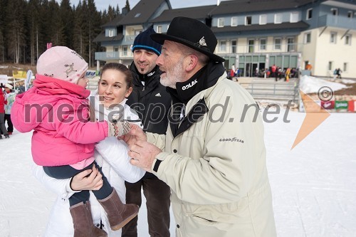
<path fill-rule="evenodd" d="M 156 66 L 150 73 L 142 75 L 137 72 L 133 62 L 130 70 L 133 75 L 133 90 L 126 104 L 140 116 L 143 130 L 165 134 L 172 98 L 166 88 L 159 83 L 161 70 Z M 145 81 L 145 86 L 142 85 L 142 81 Z"/>

